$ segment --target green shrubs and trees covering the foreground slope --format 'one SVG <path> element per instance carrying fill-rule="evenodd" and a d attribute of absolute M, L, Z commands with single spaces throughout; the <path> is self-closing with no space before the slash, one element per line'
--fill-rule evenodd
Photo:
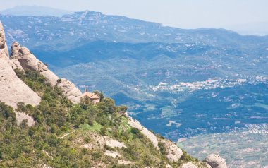
<path fill-rule="evenodd" d="M 126 107 L 116 107 L 114 100 L 106 97 L 97 105 L 85 100 L 72 104 L 39 73 L 18 70 L 16 73 L 42 101 L 37 107 L 18 103 L 18 111 L 35 119 L 32 127 L 28 127 L 26 121 L 17 126 L 13 108 L 0 102 L 0 167 L 42 167 L 44 164 L 51 167 L 165 167 L 165 163 L 169 163 L 164 153 L 156 150 L 138 129 L 126 124 L 127 119 L 122 115 Z M 127 148 L 81 147 L 80 144 L 92 143 L 97 135 L 114 138 Z M 135 166 L 117 164 L 118 159 L 104 155 L 105 150 L 116 150 L 121 155 L 119 160 L 135 162 Z M 178 167 L 182 162 L 169 164 Z"/>

